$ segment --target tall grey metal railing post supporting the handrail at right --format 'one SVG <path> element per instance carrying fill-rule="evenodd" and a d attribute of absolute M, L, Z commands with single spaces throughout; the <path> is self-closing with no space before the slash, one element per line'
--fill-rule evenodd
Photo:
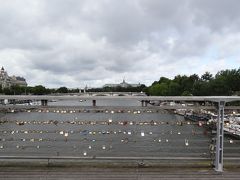
<path fill-rule="evenodd" d="M 217 172 L 223 172 L 224 106 L 225 101 L 218 102 L 217 144 L 215 155 L 215 171 Z"/>

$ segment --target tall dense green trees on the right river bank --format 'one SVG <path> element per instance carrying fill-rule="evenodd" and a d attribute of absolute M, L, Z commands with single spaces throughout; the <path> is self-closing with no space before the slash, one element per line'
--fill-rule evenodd
<path fill-rule="evenodd" d="M 240 95 L 240 68 L 219 71 L 215 76 L 206 72 L 201 76 L 177 75 L 173 79 L 161 77 L 146 89 L 151 96 L 231 96 Z"/>

